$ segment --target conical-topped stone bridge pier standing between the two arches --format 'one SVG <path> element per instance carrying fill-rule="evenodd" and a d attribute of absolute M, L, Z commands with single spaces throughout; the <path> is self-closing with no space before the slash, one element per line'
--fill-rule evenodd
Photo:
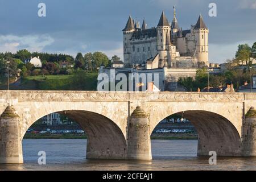
<path fill-rule="evenodd" d="M 137 106 L 130 117 L 127 158 L 151 160 L 150 123 L 147 114 Z"/>

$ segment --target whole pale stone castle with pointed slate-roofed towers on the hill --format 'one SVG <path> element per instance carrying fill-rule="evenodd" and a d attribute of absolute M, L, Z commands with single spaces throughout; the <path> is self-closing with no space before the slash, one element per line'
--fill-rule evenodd
<path fill-rule="evenodd" d="M 142 27 L 129 17 L 123 31 L 124 64 L 142 65 L 145 69 L 208 67 L 209 29 L 200 15 L 190 30 L 179 27 L 174 7 L 170 23 L 164 14 L 157 27 Z"/>

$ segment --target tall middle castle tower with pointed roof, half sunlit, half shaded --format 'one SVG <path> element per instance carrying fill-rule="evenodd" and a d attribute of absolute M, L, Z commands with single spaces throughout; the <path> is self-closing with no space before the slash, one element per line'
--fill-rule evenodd
<path fill-rule="evenodd" d="M 157 27 L 157 40 L 156 46 L 159 53 L 159 62 L 162 63 L 160 67 L 162 67 L 167 61 L 167 49 L 169 45 L 166 45 L 168 42 L 167 38 L 170 39 L 171 27 L 166 15 L 164 15 L 164 11 L 160 17 L 158 27 Z"/>

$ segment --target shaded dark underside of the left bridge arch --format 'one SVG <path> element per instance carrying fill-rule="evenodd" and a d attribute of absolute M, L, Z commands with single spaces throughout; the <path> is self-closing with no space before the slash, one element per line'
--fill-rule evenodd
<path fill-rule="evenodd" d="M 85 110 L 64 110 L 56 111 L 56 113 L 63 114 L 76 121 L 85 131 L 88 138 L 86 146 L 87 159 L 127 158 L 125 136 L 118 125 L 111 119 Z"/>

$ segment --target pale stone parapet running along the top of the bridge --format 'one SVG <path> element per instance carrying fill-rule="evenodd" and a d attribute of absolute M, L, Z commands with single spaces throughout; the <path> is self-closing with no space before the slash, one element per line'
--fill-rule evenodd
<path fill-rule="evenodd" d="M 1 100 L 18 101 L 167 101 L 167 102 L 243 102 L 256 101 L 256 93 L 202 93 L 202 92 L 96 92 L 2 90 Z"/>

